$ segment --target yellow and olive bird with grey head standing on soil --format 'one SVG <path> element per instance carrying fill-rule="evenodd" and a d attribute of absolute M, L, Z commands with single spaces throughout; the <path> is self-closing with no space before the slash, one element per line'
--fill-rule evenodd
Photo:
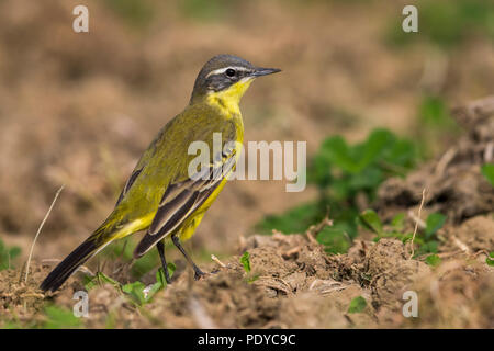
<path fill-rule="evenodd" d="M 128 177 L 108 218 L 45 278 L 44 292 L 56 292 L 78 268 L 114 240 L 138 231 L 145 235 L 134 250 L 141 258 L 156 246 L 165 279 L 170 275 L 165 240 L 170 238 L 199 280 L 205 273 L 192 261 L 181 242 L 195 233 L 205 212 L 235 170 L 244 140 L 239 102 L 258 77 L 281 71 L 262 68 L 234 55 L 217 55 L 200 70 L 189 104 L 170 120 L 144 151 Z M 214 154 L 214 135 L 222 147 Z M 189 146 L 209 146 L 209 162 L 189 167 L 195 158 Z M 228 146 L 229 145 L 229 146 Z"/>

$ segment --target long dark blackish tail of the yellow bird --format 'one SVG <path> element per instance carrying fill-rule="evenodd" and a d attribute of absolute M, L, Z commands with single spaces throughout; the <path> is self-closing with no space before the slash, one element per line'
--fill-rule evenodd
<path fill-rule="evenodd" d="M 94 236 L 90 236 L 85 242 L 79 245 L 64 261 L 58 263 L 57 267 L 45 278 L 40 288 L 47 292 L 55 292 L 64 282 L 77 271 L 87 260 L 89 260 L 98 250 L 104 245 L 104 242 L 98 242 Z"/>

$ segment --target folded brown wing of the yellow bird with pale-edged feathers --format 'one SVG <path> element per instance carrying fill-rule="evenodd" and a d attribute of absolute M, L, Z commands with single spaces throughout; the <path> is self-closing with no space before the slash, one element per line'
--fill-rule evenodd
<path fill-rule="evenodd" d="M 213 163 L 193 177 L 168 185 L 148 231 L 134 251 L 135 258 L 177 229 L 210 197 L 235 166 L 235 154 L 233 149 L 228 155 L 217 155 Z"/>

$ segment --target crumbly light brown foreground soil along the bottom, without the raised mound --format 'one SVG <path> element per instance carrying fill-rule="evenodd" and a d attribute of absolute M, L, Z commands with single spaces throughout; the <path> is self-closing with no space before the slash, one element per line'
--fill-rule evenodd
<path fill-rule="evenodd" d="M 470 227 L 482 230 L 475 223 L 494 227 L 492 218 L 470 222 Z M 434 270 L 408 259 L 395 239 L 357 241 L 348 254 L 327 256 L 307 236 L 277 234 L 252 236 L 242 249 L 250 253 L 250 273 L 235 256 L 224 262 L 226 268 L 209 264 L 213 273 L 199 282 L 189 272 L 179 274 L 142 308 L 111 285 L 93 288 L 85 326 L 102 328 L 112 318 L 116 328 L 494 327 L 494 270 L 485 264 L 484 254 L 448 252 Z M 19 283 L 19 271 L 0 272 L 2 318 L 43 320 L 44 296 L 35 287 L 48 270 L 33 268 L 27 286 Z M 257 279 L 249 282 L 252 276 Z M 47 298 L 71 309 L 79 288 L 76 275 Z M 409 290 L 419 297 L 418 318 L 402 314 L 403 292 Z M 367 307 L 349 314 L 357 296 L 366 298 Z"/>

